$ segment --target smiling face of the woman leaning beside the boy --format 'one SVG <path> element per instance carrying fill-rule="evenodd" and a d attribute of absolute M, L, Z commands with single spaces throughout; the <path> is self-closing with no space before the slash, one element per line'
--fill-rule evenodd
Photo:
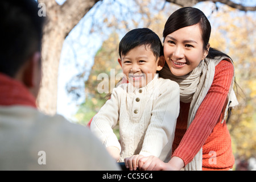
<path fill-rule="evenodd" d="M 199 24 L 180 28 L 164 39 L 164 58 L 176 76 L 193 71 L 208 55 L 203 47 Z"/>

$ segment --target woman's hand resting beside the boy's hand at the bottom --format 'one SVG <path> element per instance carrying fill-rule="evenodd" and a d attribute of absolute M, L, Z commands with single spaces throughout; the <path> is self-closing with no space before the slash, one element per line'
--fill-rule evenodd
<path fill-rule="evenodd" d="M 168 163 L 164 163 L 156 156 L 148 156 L 139 160 L 141 171 L 179 171 L 183 167 L 183 160 L 177 156 L 172 157 Z"/>

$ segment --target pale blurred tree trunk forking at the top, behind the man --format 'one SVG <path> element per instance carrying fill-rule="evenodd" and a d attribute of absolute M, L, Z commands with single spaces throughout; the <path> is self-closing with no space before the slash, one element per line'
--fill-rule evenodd
<path fill-rule="evenodd" d="M 63 42 L 73 27 L 99 0 L 67 0 L 58 5 L 55 0 L 39 0 L 46 5 L 47 23 L 42 41 L 42 85 L 38 108 L 46 114 L 55 114 L 57 106 L 57 79 Z"/>

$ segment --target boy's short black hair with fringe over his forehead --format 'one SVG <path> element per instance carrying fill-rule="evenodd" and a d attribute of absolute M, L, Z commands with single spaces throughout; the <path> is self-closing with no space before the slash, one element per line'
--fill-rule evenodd
<path fill-rule="evenodd" d="M 119 56 L 127 55 L 131 49 L 142 45 L 149 46 L 156 59 L 163 55 L 163 45 L 159 36 L 149 28 L 136 28 L 123 36 L 119 43 Z"/>

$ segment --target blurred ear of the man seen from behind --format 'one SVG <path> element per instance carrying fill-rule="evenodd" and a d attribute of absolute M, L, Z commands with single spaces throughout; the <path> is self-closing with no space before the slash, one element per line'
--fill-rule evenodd
<path fill-rule="evenodd" d="M 23 83 L 32 88 L 38 85 L 38 81 L 41 79 L 41 67 L 40 67 L 40 52 L 35 52 L 27 61 L 23 71 Z"/>

